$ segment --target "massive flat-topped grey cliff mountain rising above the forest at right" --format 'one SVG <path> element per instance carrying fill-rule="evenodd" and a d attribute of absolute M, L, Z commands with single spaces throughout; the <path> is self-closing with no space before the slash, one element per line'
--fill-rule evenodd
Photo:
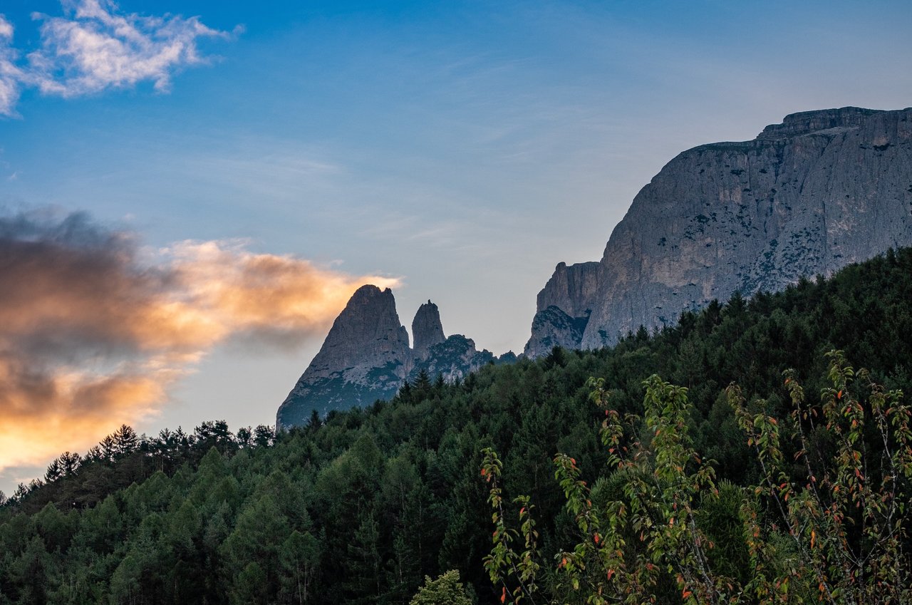
<path fill-rule="evenodd" d="M 634 198 L 600 262 L 559 264 L 531 357 L 592 349 L 682 311 L 912 245 L 912 108 L 794 113 L 684 151 Z"/>

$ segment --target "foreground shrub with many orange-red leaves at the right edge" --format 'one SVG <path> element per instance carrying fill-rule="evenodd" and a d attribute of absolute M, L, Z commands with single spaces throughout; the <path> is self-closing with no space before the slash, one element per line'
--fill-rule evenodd
<path fill-rule="evenodd" d="M 798 584 L 791 590 L 829 603 L 906 603 L 912 600 L 907 552 L 912 408 L 903 402 L 902 391 L 886 391 L 871 381 L 868 370 L 856 373 L 843 351 L 832 350 L 827 358 L 831 385 L 821 391 L 819 405 L 805 402 L 793 370 L 784 372 L 793 402 L 789 420 L 799 445 L 793 456 L 798 472 L 784 464 L 779 421 L 762 412 L 765 402 L 749 406 L 737 386 L 728 390 L 739 424 L 762 461 L 763 484 L 755 493 L 772 501 L 778 531 L 791 542 L 794 562 L 779 566 L 775 585 Z M 821 428 L 834 445 L 833 456 L 821 455 L 811 439 Z M 774 548 L 751 548 L 761 563 L 775 558 Z M 757 591 L 772 594 L 768 587 Z"/>

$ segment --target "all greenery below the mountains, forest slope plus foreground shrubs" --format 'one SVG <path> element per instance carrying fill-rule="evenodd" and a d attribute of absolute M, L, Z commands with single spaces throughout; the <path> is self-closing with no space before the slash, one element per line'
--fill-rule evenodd
<path fill-rule="evenodd" d="M 460 603 L 851 602 L 831 587 L 840 569 L 908 578 L 907 502 L 886 495 L 912 480 L 894 392 L 912 390 L 910 300 L 912 250 L 891 250 L 612 348 L 455 384 L 422 374 L 390 402 L 285 433 L 121 427 L 3 498 L 0 605 L 430 603 L 433 590 Z M 834 508 L 807 527 L 835 519 L 845 536 L 790 525 L 812 484 Z M 887 514 L 871 534 L 867 519 Z M 870 558 L 853 567 L 836 537 Z M 878 559 L 887 542 L 892 563 Z M 451 570 L 458 581 L 440 578 Z M 783 570 L 784 587 L 757 579 Z M 909 598 L 896 594 L 881 602 Z"/>

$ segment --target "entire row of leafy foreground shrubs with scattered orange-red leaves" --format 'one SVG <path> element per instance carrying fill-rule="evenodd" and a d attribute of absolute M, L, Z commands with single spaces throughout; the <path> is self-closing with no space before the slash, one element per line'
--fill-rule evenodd
<path fill-rule="evenodd" d="M 603 478 L 596 497 L 580 479 L 575 458 L 554 458 L 578 533 L 575 546 L 555 556 L 559 576 L 544 599 L 595 605 L 912 600 L 912 516 L 906 509 L 912 500 L 912 409 L 901 391 L 869 381 L 868 370 L 856 374 L 841 350 L 826 357 L 832 386 L 821 391 L 820 406 L 807 405 L 794 371 L 784 372 L 798 468 L 785 462 L 781 422 L 766 412 L 766 402 L 748 405 L 740 388 L 729 387 L 731 406 L 762 467 L 762 484 L 747 488 L 714 484 L 711 463 L 700 459 L 689 438 L 686 389 L 650 377 L 644 415 L 628 415 L 626 428 L 610 407 L 604 381 L 590 379 L 592 399 L 605 411 L 600 433 L 615 469 L 609 478 L 617 477 L 621 489 L 608 488 Z M 855 385 L 855 378 L 867 383 Z M 817 423 L 834 442 L 832 457 L 808 450 L 808 431 Z M 634 435 L 629 445 L 627 433 Z M 513 547 L 519 532 L 504 522 L 503 467 L 491 448 L 483 454 L 494 526 L 486 567 L 495 586 L 503 584 L 502 600 L 534 600 L 534 538 Z M 532 526 L 523 517 L 529 499 L 515 502 L 522 506 L 525 534 Z M 668 590 L 671 578 L 679 595 Z M 511 579 L 520 589 L 509 591 Z"/>

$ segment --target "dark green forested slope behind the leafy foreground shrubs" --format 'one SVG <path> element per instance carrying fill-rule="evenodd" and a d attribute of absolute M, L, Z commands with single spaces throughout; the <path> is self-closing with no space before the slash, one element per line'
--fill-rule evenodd
<path fill-rule="evenodd" d="M 912 250 L 889 251 L 830 279 L 714 302 L 611 349 L 554 349 L 456 384 L 421 375 L 390 402 L 291 432 L 204 422 L 146 438 L 124 427 L 85 456 L 61 455 L 0 507 L 0 604 L 408 603 L 426 575 L 449 569 L 478 602 L 499 602 L 482 563 L 492 549 L 482 449 L 503 460 L 505 501 L 529 495 L 552 560 L 579 539 L 554 454 L 572 456 L 590 484 L 611 472 L 589 377 L 605 379 L 620 415 L 643 413 L 652 374 L 686 387 L 695 450 L 717 479 L 753 485 L 762 469 L 725 388 L 736 381 L 784 420 L 782 371 L 813 399 L 824 352 L 843 349 L 908 392 L 909 300 Z M 680 600 L 666 580 L 663 602 Z"/>

